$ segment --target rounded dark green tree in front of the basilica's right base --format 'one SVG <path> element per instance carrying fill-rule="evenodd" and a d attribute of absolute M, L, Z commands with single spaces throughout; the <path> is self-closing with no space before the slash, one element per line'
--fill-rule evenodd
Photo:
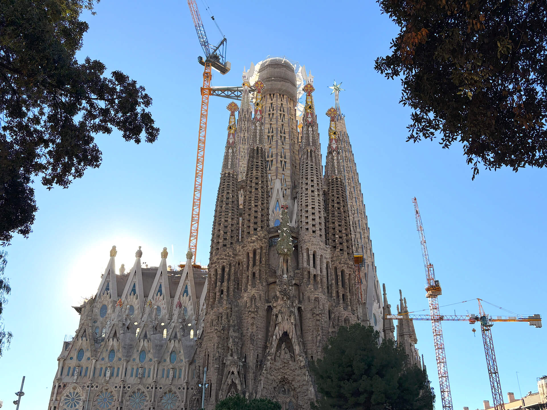
<path fill-rule="evenodd" d="M 323 359 L 311 363 L 321 398 L 319 410 L 430 410 L 435 396 L 426 373 L 407 365 L 394 341 L 359 323 L 341 326 Z"/>

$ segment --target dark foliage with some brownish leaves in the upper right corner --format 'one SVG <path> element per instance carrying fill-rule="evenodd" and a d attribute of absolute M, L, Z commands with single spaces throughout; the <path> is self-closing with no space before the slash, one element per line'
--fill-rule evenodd
<path fill-rule="evenodd" d="M 479 166 L 547 161 L 547 0 L 377 0 L 400 27 L 376 71 L 401 77 L 408 140 L 463 143 Z"/>

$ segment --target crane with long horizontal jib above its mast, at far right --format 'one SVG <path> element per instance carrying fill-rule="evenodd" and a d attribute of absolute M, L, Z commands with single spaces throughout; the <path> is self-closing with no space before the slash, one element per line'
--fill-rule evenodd
<path fill-rule="evenodd" d="M 492 341 L 492 326 L 494 322 L 528 322 L 531 326 L 542 327 L 542 318 L 539 314 L 532 316 L 497 316 L 496 318 L 487 315 L 482 308 L 481 300 L 479 302 L 479 314 L 469 315 L 439 315 L 437 320 L 449 321 L 467 321 L 470 324 L 480 323 L 482 332 L 482 343 L 484 344 L 484 353 L 486 356 L 486 367 L 488 368 L 488 377 L 490 378 L 490 388 L 492 389 L 492 399 L 496 410 L 505 410 L 503 404 L 502 387 L 499 382 L 498 365 L 496 362 L 496 354 L 494 353 L 494 342 Z M 433 320 L 433 315 L 411 315 L 408 313 L 400 313 L 398 315 L 386 315 L 386 319 L 409 319 L 409 320 Z M 473 329 L 475 331 L 475 329 Z"/>

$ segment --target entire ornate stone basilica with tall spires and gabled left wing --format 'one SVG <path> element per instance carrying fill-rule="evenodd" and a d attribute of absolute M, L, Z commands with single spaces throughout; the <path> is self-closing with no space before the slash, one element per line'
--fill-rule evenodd
<path fill-rule="evenodd" d="M 243 72 L 241 107 L 228 104 L 208 267 L 189 251 L 173 270 L 166 248 L 158 267 L 143 266 L 139 247 L 117 272 L 113 247 L 96 294 L 75 307 L 49 410 L 213 409 L 234 394 L 306 410 L 317 395 L 309 362 L 339 326 L 394 337 L 331 88 L 323 173 L 311 73 L 285 58 Z M 399 309 L 408 312 L 402 296 Z M 397 327 L 421 366 L 411 321 Z"/>

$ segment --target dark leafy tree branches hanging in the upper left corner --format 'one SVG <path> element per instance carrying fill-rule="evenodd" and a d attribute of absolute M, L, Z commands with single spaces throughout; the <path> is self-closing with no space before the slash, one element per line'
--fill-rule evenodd
<path fill-rule="evenodd" d="M 0 0 L 0 244 L 28 236 L 33 177 L 67 188 L 101 164 L 98 133 L 152 143 L 152 98 L 127 75 L 75 55 L 94 0 Z"/>

